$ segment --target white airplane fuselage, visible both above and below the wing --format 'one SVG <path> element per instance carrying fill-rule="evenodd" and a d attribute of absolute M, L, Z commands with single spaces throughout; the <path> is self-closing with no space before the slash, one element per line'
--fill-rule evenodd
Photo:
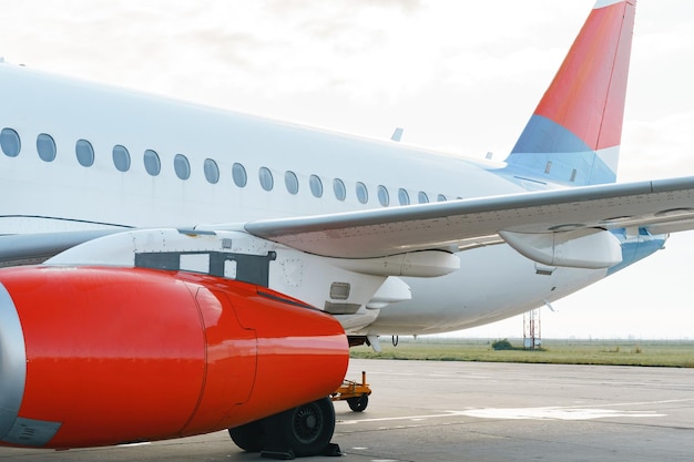
<path fill-rule="evenodd" d="M 553 187 L 514 177 L 500 163 L 197 107 L 9 64 L 0 65 L 0 130 L 11 129 L 21 141 L 17 156 L 7 155 L 4 146 L 0 153 L 0 234 L 243 224 L 395 207 L 402 191 L 418 204 L 423 195 L 436 202 Z M 54 141 L 51 161 L 39 155 L 40 134 Z M 78 161 L 79 140 L 93 147 L 92 165 Z M 115 165 L 123 158 L 114 162 L 116 145 L 129 153 L 124 172 Z M 147 150 L 156 153 L 147 154 L 155 175 L 145 168 Z M 178 154 L 190 165 L 185 179 L 174 167 Z M 239 166 L 245 185 L 241 176 L 233 177 Z M 262 186 L 264 168 L 272 174 L 272 187 Z M 339 191 L 336 195 L 336 183 L 344 184 L 344 198 Z M 359 199 L 359 184 L 366 201 Z M 346 324 L 348 330 L 407 335 L 478 326 L 561 298 L 608 274 L 542 271 L 506 244 L 458 256 L 460 269 L 452 274 L 402 278 L 410 300 L 374 308 L 368 322 Z"/>

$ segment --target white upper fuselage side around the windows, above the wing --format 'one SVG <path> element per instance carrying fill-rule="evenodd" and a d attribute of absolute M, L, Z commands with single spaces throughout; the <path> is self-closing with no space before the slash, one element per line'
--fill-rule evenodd
<path fill-rule="evenodd" d="M 518 185 L 493 174 L 500 164 L 463 160 L 427 152 L 394 142 L 364 140 L 286 123 L 192 106 L 185 103 L 103 89 L 83 82 L 55 80 L 9 64 L 0 66 L 2 127 L 14 129 L 22 138 L 16 158 L 1 156 L 2 188 L 21 191 L 22 199 L 3 204 L 2 215 L 60 216 L 130 226 L 234 223 L 268 216 L 315 215 L 380 207 L 376 188 L 388 187 L 391 206 L 398 188 L 408 189 L 412 203 L 423 191 L 430 201 L 511 194 Z M 50 134 L 58 145 L 51 163 L 35 153 L 39 133 Z M 95 162 L 78 164 L 74 144 L 92 143 Z M 129 172 L 115 170 L 112 148 L 130 151 Z M 162 161 L 159 176 L 150 176 L 143 164 L 145 150 Z M 176 177 L 173 158 L 184 154 L 191 162 L 190 179 Z M 205 158 L 221 171 L 217 184 L 203 175 Z M 232 182 L 232 164 L 241 163 L 248 184 Z M 258 168 L 268 167 L 275 178 L 272 192 L 261 188 Z M 286 171 L 299 178 L 299 193 L 284 185 Z M 324 196 L 308 188 L 308 176 L 323 181 Z M 333 179 L 341 178 L 347 199 L 337 201 Z M 369 189 L 369 202 L 359 204 L 356 182 Z M 34 187 L 29 188 L 32 184 Z M 62 201 L 47 201 L 45 191 Z M 93 192 L 85 201 L 85 191 Z M 98 201 L 94 201 L 94 197 Z M 4 230 L 4 229 L 3 229 Z"/>

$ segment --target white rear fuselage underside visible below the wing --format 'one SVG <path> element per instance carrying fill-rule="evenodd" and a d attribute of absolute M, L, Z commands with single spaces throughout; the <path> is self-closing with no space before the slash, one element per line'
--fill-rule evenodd
<path fill-rule="evenodd" d="M 539 275 L 533 261 L 507 245 L 458 255 L 460 270 L 456 273 L 433 279 L 404 278 L 412 299 L 381 309 L 369 329 L 415 335 L 481 326 L 562 298 L 606 275 L 604 269 L 575 268 Z"/>

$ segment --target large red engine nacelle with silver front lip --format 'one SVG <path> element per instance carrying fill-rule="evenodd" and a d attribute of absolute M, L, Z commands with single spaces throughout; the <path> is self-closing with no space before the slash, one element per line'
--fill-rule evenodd
<path fill-rule="evenodd" d="M 132 268 L 0 271 L 0 444 L 236 427 L 328 396 L 347 362 L 335 319 L 263 287 Z"/>

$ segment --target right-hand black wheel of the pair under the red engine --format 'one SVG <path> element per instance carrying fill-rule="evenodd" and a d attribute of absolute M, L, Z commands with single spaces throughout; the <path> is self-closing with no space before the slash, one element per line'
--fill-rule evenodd
<path fill-rule="evenodd" d="M 323 454 L 334 431 L 335 408 L 327 397 L 266 419 L 267 446 L 297 458 Z"/>

